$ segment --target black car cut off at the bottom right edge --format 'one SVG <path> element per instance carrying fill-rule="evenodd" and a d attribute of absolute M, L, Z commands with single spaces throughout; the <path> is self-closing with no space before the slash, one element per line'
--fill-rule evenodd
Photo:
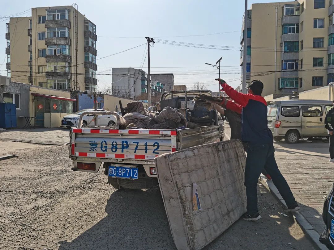
<path fill-rule="evenodd" d="M 322 210 L 322 219 L 325 222 L 325 230 L 322 232 L 319 241 L 325 244 L 328 249 L 334 249 L 334 194 L 333 186 L 330 188 Z"/>

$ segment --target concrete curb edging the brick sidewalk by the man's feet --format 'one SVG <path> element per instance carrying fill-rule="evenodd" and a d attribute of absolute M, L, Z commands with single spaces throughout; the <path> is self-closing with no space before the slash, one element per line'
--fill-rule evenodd
<path fill-rule="evenodd" d="M 282 205 L 286 206 L 285 201 L 278 192 L 276 186 L 273 182 L 267 182 L 267 179 L 264 175 L 261 174 L 259 182 L 264 185 L 271 194 L 278 199 Z M 313 241 L 313 244 L 316 245 L 321 250 L 328 250 L 328 248 L 319 242 L 320 234 L 314 229 L 314 227 L 307 221 L 307 219 L 300 212 L 291 212 L 294 218 L 294 221 L 301 227 L 305 235 Z"/>

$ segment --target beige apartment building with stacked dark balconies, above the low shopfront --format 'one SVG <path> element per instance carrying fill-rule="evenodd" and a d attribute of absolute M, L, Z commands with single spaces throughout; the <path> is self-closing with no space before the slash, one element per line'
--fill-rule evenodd
<path fill-rule="evenodd" d="M 96 90 L 96 25 L 76 8 L 39 7 L 32 8 L 29 17 L 11 17 L 5 39 L 11 81 Z"/>

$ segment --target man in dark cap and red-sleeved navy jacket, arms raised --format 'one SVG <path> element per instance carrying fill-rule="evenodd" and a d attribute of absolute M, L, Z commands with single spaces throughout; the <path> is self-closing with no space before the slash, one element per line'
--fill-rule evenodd
<path fill-rule="evenodd" d="M 228 86 L 222 79 L 218 80 L 222 91 L 234 101 L 223 99 L 221 105 L 227 109 L 241 113 L 241 140 L 247 153 L 245 181 L 247 196 L 247 212 L 242 216 L 244 220 L 256 221 L 261 219 L 258 210 L 257 184 L 261 171 L 265 169 L 287 204 L 286 212 L 297 211 L 299 208 L 291 189 L 278 169 L 275 160 L 273 135 L 268 128 L 267 102 L 261 96 L 263 83 L 252 81 L 248 87 L 248 94 L 242 94 Z"/>

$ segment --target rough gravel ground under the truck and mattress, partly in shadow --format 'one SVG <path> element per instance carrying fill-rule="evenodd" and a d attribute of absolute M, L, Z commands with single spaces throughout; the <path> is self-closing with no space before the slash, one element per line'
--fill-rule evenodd
<path fill-rule="evenodd" d="M 25 148 L 0 162 L 0 249 L 175 249 L 160 191 L 116 191 L 72 172 L 67 146 Z M 205 249 L 315 249 L 259 186 L 263 219 L 233 224 Z"/>

